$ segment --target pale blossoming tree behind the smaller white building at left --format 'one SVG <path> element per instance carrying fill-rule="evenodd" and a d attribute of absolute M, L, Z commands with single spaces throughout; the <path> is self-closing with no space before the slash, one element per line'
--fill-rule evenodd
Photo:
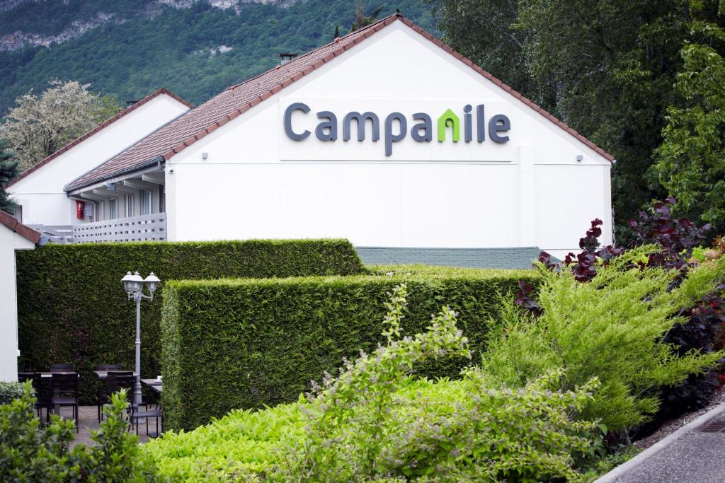
<path fill-rule="evenodd" d="M 0 126 L 17 154 L 20 169 L 28 169 L 46 156 L 91 130 L 117 112 L 115 101 L 88 91 L 75 80 L 51 80 L 40 96 L 28 91 L 15 99 Z"/>

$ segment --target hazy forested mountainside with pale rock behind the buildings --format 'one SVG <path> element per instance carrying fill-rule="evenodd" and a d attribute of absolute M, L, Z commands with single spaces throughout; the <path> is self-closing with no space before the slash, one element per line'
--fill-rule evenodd
<path fill-rule="evenodd" d="M 281 52 L 302 53 L 329 42 L 338 25 L 341 34 L 349 32 L 355 5 L 355 0 L 1 1 L 0 112 L 53 78 L 91 83 L 93 91 L 120 101 L 165 86 L 199 104 L 273 67 Z M 435 28 L 431 7 L 421 0 L 365 0 L 363 8 L 366 15 L 381 8 L 378 18 L 399 9 L 426 30 Z"/>

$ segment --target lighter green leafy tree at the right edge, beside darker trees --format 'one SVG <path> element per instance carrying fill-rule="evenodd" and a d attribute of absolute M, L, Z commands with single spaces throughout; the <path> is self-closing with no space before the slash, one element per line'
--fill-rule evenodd
<path fill-rule="evenodd" d="M 703 4 L 692 2 L 693 16 Z M 725 13 L 725 2 L 718 5 Z M 692 42 L 684 44 L 682 72 L 675 85 L 684 102 L 671 106 L 655 172 L 684 211 L 725 224 L 725 30 L 695 20 Z"/>

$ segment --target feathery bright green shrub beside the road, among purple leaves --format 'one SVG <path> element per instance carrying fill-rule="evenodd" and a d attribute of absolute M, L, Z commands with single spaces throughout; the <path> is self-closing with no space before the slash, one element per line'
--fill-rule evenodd
<path fill-rule="evenodd" d="M 723 279 L 725 261 L 697 266 L 668 290 L 679 271 L 632 268 L 655 249 L 628 251 L 598 266 L 597 277 L 587 283 L 567 270 L 540 270 L 542 315 L 533 320 L 504 301 L 483 370 L 497 381 L 523 386 L 563 367 L 563 390 L 598 377 L 602 386 L 581 417 L 601 419 L 616 431 L 642 424 L 657 411 L 658 387 L 676 385 L 725 356 L 723 351 L 677 356 L 674 346 L 662 342 L 673 324 L 686 322 L 682 311 Z"/>

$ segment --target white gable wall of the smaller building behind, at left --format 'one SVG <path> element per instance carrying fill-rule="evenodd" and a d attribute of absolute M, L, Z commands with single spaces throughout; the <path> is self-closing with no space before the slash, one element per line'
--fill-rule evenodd
<path fill-rule="evenodd" d="M 83 223 L 75 218 L 75 201 L 67 198 L 63 187 L 186 110 L 186 105 L 161 94 L 11 185 L 9 192 L 22 206 L 22 222 Z"/>

